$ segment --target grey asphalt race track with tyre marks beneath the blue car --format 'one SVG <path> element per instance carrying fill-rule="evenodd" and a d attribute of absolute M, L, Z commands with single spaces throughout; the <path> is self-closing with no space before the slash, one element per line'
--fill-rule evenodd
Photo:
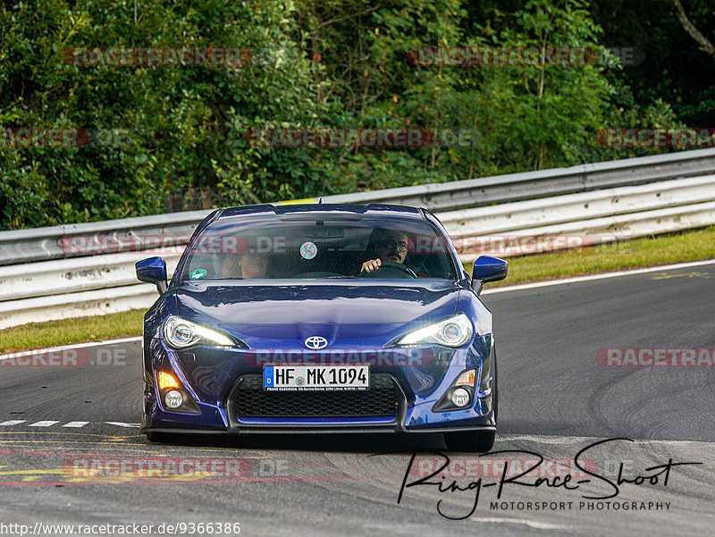
<path fill-rule="evenodd" d="M 618 367 L 606 357 L 609 348 L 663 348 L 660 362 L 669 364 L 673 349 L 711 353 L 713 286 L 715 264 L 707 264 L 485 293 L 500 373 L 493 451 L 509 452 L 449 454 L 433 478 L 445 461 L 438 435 L 150 444 L 137 428 L 138 342 L 29 365 L 0 360 L 0 524 L 28 524 L 28 534 L 43 532 L 37 523 L 75 532 L 154 524 L 155 535 L 167 533 L 161 524 L 208 534 L 190 524 L 210 523 L 222 524 L 214 534 L 235 534 L 230 523 L 266 536 L 711 535 L 715 370 L 707 356 L 696 354 L 698 367 Z M 626 351 L 611 352 L 627 361 Z M 632 441 L 589 449 L 617 437 Z M 545 461 L 517 478 L 522 484 L 509 481 L 539 455 Z M 685 462 L 702 464 L 668 466 Z M 621 464 L 622 479 L 648 478 L 618 484 Z M 548 482 L 535 486 L 537 477 Z M 420 478 L 442 485 L 415 484 Z"/>

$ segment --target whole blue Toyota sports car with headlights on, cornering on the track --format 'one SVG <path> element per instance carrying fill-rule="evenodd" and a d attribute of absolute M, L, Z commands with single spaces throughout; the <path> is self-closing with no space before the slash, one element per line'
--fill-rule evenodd
<path fill-rule="evenodd" d="M 144 317 L 142 431 L 442 432 L 487 451 L 492 314 L 437 218 L 405 206 L 242 206 L 198 225 Z"/>

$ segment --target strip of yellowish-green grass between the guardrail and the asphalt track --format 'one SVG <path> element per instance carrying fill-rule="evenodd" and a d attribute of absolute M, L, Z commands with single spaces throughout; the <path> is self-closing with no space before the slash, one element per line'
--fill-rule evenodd
<path fill-rule="evenodd" d="M 486 289 L 713 258 L 715 226 L 564 253 L 509 257 L 507 279 L 488 283 Z M 471 273 L 471 264 L 466 268 Z M 0 352 L 137 336 L 143 316 L 143 310 L 133 310 L 6 329 L 0 331 Z"/>

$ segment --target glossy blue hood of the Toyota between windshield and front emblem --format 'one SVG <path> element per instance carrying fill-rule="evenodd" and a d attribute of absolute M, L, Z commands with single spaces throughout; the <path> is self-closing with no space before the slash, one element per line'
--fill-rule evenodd
<path fill-rule="evenodd" d="M 329 346 L 382 347 L 412 328 L 456 311 L 453 281 L 182 282 L 178 315 L 231 334 L 250 348 L 302 347 L 320 335 Z"/>

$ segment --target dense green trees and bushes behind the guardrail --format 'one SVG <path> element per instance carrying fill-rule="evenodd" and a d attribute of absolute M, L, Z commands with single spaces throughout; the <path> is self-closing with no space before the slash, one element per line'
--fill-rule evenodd
<path fill-rule="evenodd" d="M 705 0 L 685 7 L 704 35 L 715 34 L 715 8 Z M 96 46 L 260 54 L 210 66 L 67 59 L 71 47 Z M 645 59 L 408 61 L 430 46 L 638 46 Z M 4 0 L 0 230 L 649 154 L 658 149 L 603 147 L 597 133 L 711 126 L 714 74 L 668 0 Z M 462 130 L 471 146 L 260 147 L 247 137 L 252 129 L 360 127 Z M 86 128 L 116 143 L 15 147 L 6 133 L 21 128 Z"/>

